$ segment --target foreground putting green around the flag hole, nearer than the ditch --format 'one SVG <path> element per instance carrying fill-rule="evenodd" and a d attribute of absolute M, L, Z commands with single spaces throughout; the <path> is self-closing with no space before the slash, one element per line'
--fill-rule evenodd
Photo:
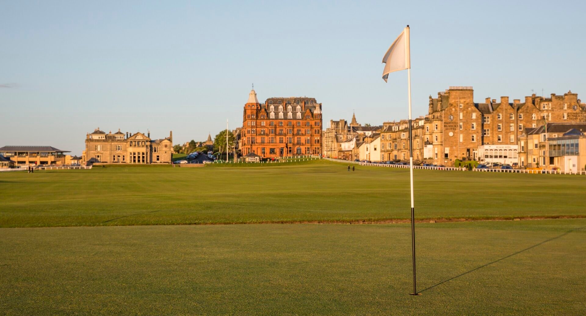
<path fill-rule="evenodd" d="M 586 219 L 418 224 L 418 297 L 408 295 L 403 224 L 1 228 L 0 310 L 584 315 L 584 226 Z"/>

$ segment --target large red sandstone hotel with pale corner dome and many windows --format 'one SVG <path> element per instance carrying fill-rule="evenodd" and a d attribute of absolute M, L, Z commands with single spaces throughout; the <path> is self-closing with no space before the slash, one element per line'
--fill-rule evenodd
<path fill-rule="evenodd" d="M 250 91 L 244 105 L 241 154 L 284 157 L 322 152 L 322 104 L 314 98 L 269 98 Z"/>

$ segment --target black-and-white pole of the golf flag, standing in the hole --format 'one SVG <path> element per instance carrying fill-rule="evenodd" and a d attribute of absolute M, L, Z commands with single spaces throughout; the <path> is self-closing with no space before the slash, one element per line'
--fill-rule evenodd
<path fill-rule="evenodd" d="M 409 47 L 409 26 L 407 25 L 406 31 L 406 59 L 409 68 L 407 68 L 407 94 L 409 97 L 409 177 L 411 182 L 411 251 L 413 253 L 413 295 L 419 295 L 417 293 L 417 274 L 415 273 L 415 208 L 413 202 L 413 132 L 411 130 L 413 125 L 413 118 L 411 117 L 411 50 Z"/>

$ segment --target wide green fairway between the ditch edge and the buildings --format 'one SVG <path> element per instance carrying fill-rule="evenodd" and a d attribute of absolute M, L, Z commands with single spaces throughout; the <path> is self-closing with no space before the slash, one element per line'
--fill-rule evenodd
<path fill-rule="evenodd" d="M 96 167 L 0 174 L 0 227 L 377 221 L 410 217 L 408 169 Z M 586 177 L 415 170 L 417 218 L 586 215 Z"/>

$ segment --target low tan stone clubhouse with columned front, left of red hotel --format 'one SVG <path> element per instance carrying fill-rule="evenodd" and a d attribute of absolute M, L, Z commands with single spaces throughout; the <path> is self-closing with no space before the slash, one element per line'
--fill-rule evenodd
<path fill-rule="evenodd" d="M 105 133 L 100 128 L 86 135 L 84 162 L 172 163 L 173 132 L 169 137 L 151 139 L 151 133 Z"/>

